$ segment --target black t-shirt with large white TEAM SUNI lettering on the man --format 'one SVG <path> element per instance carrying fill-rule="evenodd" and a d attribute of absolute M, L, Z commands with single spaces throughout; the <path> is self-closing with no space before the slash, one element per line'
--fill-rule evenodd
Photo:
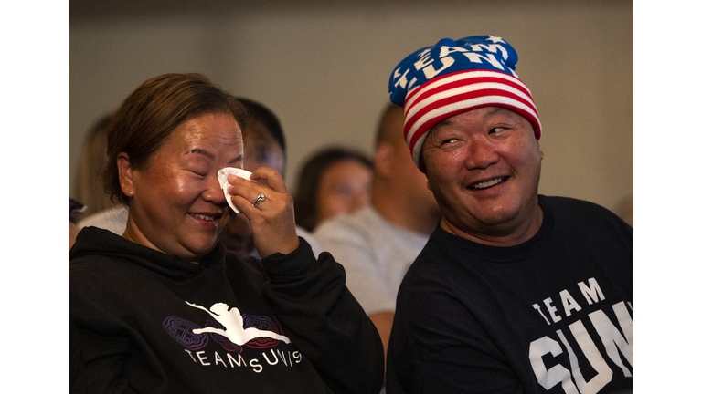
<path fill-rule="evenodd" d="M 633 229 L 590 202 L 539 205 L 524 244 L 432 233 L 399 289 L 388 394 L 633 388 Z"/>

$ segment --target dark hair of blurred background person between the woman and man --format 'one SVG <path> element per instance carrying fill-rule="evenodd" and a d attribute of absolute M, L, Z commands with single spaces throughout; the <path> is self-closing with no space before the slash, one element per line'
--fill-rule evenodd
<path fill-rule="evenodd" d="M 324 171 L 338 161 L 359 161 L 373 171 L 373 162 L 363 153 L 342 147 L 319 150 L 304 162 L 295 189 L 295 223 L 312 232 L 317 224 L 317 191 Z"/>

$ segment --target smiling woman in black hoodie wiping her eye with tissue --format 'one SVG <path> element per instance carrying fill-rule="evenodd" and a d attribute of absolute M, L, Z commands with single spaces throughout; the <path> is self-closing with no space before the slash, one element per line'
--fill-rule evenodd
<path fill-rule="evenodd" d="M 122 236 L 87 227 L 69 254 L 71 392 L 378 392 L 383 348 L 331 254 L 295 233 L 274 170 L 229 175 L 261 254 L 218 239 L 236 216 L 248 115 L 198 74 L 151 78 L 108 131 Z"/>

